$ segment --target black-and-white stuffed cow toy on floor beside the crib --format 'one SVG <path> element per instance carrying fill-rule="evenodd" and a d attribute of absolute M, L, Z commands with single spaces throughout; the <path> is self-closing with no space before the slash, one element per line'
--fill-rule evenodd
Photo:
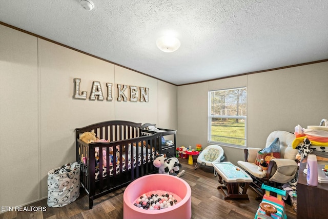
<path fill-rule="evenodd" d="M 156 154 L 156 159 L 153 165 L 158 168 L 158 173 L 170 174 L 175 172 L 179 173 L 180 169 L 179 160 L 176 157 L 167 159 L 166 154 Z"/>

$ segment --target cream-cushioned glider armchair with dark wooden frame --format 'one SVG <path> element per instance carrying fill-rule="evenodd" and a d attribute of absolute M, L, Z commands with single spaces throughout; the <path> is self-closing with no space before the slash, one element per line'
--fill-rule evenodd
<path fill-rule="evenodd" d="M 295 135 L 286 131 L 274 131 L 267 138 L 265 148 L 268 148 L 275 140 L 279 138 L 280 158 L 273 158 L 268 165 L 267 172 L 258 170 L 258 165 L 255 164 L 258 151 L 263 148 L 246 148 L 244 149 L 245 161 L 238 161 L 238 165 L 248 172 L 253 178 L 253 183 L 250 186 L 259 194 L 257 200 L 263 196 L 262 184 L 273 187 L 280 187 L 282 184 L 290 182 L 298 169 L 295 161 L 298 150 L 293 149 L 292 143 Z M 277 142 L 277 141 L 275 141 Z"/>

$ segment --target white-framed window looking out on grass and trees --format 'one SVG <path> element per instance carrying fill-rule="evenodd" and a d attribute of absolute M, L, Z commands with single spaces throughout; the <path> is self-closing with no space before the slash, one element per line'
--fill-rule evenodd
<path fill-rule="evenodd" d="M 246 146 L 247 90 L 245 87 L 209 91 L 208 141 Z"/>

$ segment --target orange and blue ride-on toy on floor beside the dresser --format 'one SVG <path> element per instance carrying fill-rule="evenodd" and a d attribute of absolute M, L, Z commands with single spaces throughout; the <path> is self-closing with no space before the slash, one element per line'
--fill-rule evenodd
<path fill-rule="evenodd" d="M 285 203 L 282 200 L 282 195 L 286 195 L 286 191 L 264 184 L 262 184 L 262 189 L 265 189 L 265 194 L 254 219 L 287 219 Z M 270 195 L 270 191 L 277 193 L 277 197 Z"/>

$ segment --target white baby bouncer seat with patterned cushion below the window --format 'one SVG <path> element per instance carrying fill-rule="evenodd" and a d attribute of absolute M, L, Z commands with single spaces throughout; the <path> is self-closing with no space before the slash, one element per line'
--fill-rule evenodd
<path fill-rule="evenodd" d="M 218 145 L 209 145 L 200 152 L 197 157 L 195 170 L 201 165 L 213 167 L 212 163 L 222 162 L 224 160 L 224 151 Z M 199 166 L 198 166 L 199 165 Z M 216 176 L 215 169 L 213 168 L 214 176 Z"/>

